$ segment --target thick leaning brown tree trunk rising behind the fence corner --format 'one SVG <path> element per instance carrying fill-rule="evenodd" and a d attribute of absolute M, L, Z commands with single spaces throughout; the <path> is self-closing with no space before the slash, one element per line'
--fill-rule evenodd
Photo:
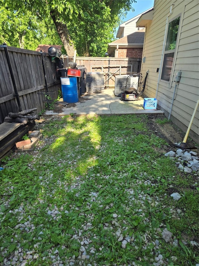
<path fill-rule="evenodd" d="M 63 24 L 62 22 L 58 22 L 56 20 L 56 16 L 53 14 L 53 12 L 50 12 L 50 16 L 53 19 L 53 22 L 55 24 L 55 27 L 57 28 L 59 37 L 63 43 L 64 49 L 67 52 L 67 56 L 74 56 L 74 45 L 71 40 L 70 34 L 68 32 L 66 24 Z"/>

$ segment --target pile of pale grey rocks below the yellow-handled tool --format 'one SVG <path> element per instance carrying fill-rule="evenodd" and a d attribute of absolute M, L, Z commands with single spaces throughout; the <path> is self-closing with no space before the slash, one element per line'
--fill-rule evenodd
<path fill-rule="evenodd" d="M 176 165 L 179 169 L 183 170 L 186 173 L 197 173 L 199 171 L 199 158 L 197 152 L 188 152 L 186 150 L 177 149 L 176 152 L 169 151 L 164 155 L 169 157 L 177 157 L 178 162 L 176 162 Z"/>

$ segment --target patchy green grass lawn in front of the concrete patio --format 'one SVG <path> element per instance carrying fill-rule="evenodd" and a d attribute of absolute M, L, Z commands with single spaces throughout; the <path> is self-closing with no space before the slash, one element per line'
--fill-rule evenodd
<path fill-rule="evenodd" d="M 153 265 L 158 254 L 168 265 L 198 263 L 198 249 L 189 240 L 183 244 L 184 235 L 198 238 L 198 191 L 190 189 L 194 176 L 180 172 L 175 161 L 155 149 L 167 143 L 147 128 L 147 119 L 48 120 L 37 153 L 6 158 L 0 171 L 0 265 L 19 247 L 37 256 L 28 265 L 51 265 L 50 250 L 64 265 L 73 256 L 78 265 L 76 236 L 90 240 L 84 265 Z M 180 200 L 170 197 L 171 188 Z M 53 218 L 48 212 L 55 209 Z M 177 246 L 164 241 L 164 228 Z M 125 247 L 118 230 L 129 239 Z"/>

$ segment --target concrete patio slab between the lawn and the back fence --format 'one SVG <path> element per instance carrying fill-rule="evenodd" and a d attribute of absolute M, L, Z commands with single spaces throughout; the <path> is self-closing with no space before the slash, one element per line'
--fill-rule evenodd
<path fill-rule="evenodd" d="M 59 113 L 53 110 L 46 111 L 44 115 L 86 115 L 86 114 L 164 114 L 161 110 L 145 110 L 144 98 L 137 101 L 121 101 L 120 96 L 114 95 L 113 89 L 104 89 L 101 93 L 81 95 L 81 99 L 72 107 L 63 107 Z"/>

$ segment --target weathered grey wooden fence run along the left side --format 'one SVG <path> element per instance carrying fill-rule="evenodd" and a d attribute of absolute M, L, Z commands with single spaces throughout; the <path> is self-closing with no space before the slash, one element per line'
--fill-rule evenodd
<path fill-rule="evenodd" d="M 3 44 L 0 58 L 0 123 L 9 112 L 37 108 L 38 114 L 57 98 L 61 86 L 51 57 Z"/>

